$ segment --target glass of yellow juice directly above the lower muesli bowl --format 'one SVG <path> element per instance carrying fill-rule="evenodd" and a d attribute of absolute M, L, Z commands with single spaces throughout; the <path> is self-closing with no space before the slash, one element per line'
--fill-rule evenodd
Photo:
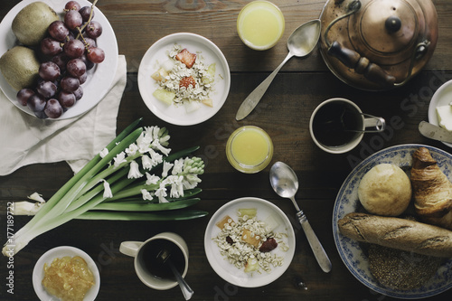
<path fill-rule="evenodd" d="M 240 127 L 231 134 L 226 143 L 226 156 L 238 171 L 245 174 L 258 173 L 270 163 L 273 143 L 260 127 Z"/>

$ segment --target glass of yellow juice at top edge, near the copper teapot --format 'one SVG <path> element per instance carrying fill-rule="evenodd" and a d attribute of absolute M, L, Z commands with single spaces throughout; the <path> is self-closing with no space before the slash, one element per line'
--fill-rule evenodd
<path fill-rule="evenodd" d="M 253 1 L 245 5 L 237 18 L 241 41 L 258 51 L 268 50 L 284 33 L 285 21 L 277 5 L 268 1 Z"/>

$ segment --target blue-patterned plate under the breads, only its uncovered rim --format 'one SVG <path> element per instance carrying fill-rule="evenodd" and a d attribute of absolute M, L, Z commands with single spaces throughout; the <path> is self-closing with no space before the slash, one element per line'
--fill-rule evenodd
<path fill-rule="evenodd" d="M 388 287 L 382 287 L 377 280 L 372 277 L 369 270 L 367 257 L 361 249 L 361 244 L 356 240 L 344 237 L 337 226 L 337 221 L 346 214 L 355 212 L 359 204 L 358 186 L 366 174 L 373 166 L 382 163 L 398 165 L 404 170 L 410 170 L 412 153 L 421 145 L 401 145 L 391 146 L 375 153 L 357 165 L 351 174 L 345 179 L 334 203 L 333 211 L 333 233 L 334 242 L 339 255 L 344 261 L 345 266 L 350 270 L 354 277 L 360 280 L 363 285 L 382 295 L 392 296 L 403 299 L 417 299 L 428 296 L 434 296 L 442 293 L 452 287 L 452 259 L 442 265 L 437 274 L 428 281 L 423 287 L 413 290 L 394 290 Z M 427 147 L 430 154 L 438 162 L 439 168 L 452 179 L 452 155 L 431 146 Z"/>

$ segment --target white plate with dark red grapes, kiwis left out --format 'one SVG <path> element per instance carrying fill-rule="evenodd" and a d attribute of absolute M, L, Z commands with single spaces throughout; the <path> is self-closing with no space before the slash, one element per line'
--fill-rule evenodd
<path fill-rule="evenodd" d="M 24 44 L 12 24 L 35 2 L 21 1 L 0 24 L 0 39 L 5 41 L 0 43 L 0 56 L 16 48 L 34 52 L 28 56 L 36 58 L 37 65 L 30 68 L 35 80 L 12 85 L 0 72 L 0 89 L 17 108 L 38 118 L 78 117 L 94 108 L 113 83 L 118 65 L 115 33 L 105 15 L 87 0 L 42 0 L 56 13 L 56 20 L 36 45 Z"/>

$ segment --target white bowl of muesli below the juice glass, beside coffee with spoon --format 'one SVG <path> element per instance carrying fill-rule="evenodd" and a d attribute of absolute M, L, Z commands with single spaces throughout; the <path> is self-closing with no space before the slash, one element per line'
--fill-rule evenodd
<path fill-rule="evenodd" d="M 287 270 L 296 248 L 287 215 L 272 202 L 244 197 L 212 215 L 204 249 L 213 270 L 238 287 L 262 287 Z"/>

